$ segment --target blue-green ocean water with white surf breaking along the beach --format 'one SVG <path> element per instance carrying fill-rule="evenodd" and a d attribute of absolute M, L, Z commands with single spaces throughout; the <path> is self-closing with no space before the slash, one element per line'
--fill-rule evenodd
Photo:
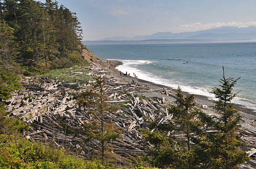
<path fill-rule="evenodd" d="M 118 60 L 122 72 L 214 99 L 223 76 L 237 79 L 233 99 L 256 110 L 256 42 L 164 45 L 87 45 L 101 59 Z"/>

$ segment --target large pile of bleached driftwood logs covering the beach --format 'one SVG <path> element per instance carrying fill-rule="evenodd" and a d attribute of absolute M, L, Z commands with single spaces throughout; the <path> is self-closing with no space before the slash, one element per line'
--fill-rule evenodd
<path fill-rule="evenodd" d="M 94 66 L 90 69 L 96 68 Z M 104 76 L 109 72 L 95 71 L 91 74 Z M 113 152 L 124 157 L 145 152 L 147 147 L 139 129 L 147 126 L 148 119 L 165 123 L 172 115 L 168 115 L 165 108 L 167 100 L 164 97 L 140 99 L 136 95 L 140 92 L 157 91 L 164 95 L 176 96 L 166 88 L 151 90 L 148 86 L 138 85 L 135 81 L 121 83 L 114 78 L 106 78 L 105 81 L 108 102 L 124 103 L 119 110 L 105 115 L 105 118 L 117 127 L 123 128 L 122 138 L 111 145 Z M 11 116 L 20 117 L 31 124 L 32 128 L 24 131 L 24 137 L 31 141 L 39 140 L 45 144 L 65 147 L 71 154 L 81 157 L 97 153 L 100 149 L 97 140 L 84 144 L 83 135 L 67 132 L 69 126 L 79 128 L 96 119 L 76 104 L 77 92 L 88 89 L 90 83 L 87 86 L 77 86 L 74 83 L 62 83 L 47 77 L 27 77 L 23 79 L 23 83 L 22 92 L 14 93 L 13 97 L 7 100 L 7 104 L 8 110 L 12 111 Z M 256 165 L 256 132 L 245 130 L 242 140 L 252 148 L 247 153 L 252 157 L 250 162 Z"/>

